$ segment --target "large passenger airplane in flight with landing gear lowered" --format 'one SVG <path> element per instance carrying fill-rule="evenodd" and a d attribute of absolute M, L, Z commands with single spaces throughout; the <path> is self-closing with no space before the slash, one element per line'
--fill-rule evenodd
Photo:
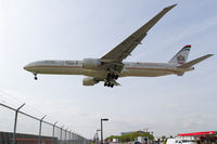
<path fill-rule="evenodd" d="M 148 31 L 177 4 L 163 9 L 146 24 L 131 34 L 122 43 L 115 47 L 101 58 L 84 58 L 82 61 L 37 61 L 24 69 L 30 71 L 37 80 L 37 74 L 48 75 L 85 75 L 84 86 L 94 86 L 103 81 L 105 87 L 120 86 L 119 77 L 158 77 L 166 75 L 182 76 L 193 70 L 193 65 L 204 61 L 213 54 L 206 54 L 187 63 L 191 45 L 183 47 L 168 63 L 123 62 L 146 36 Z"/>

